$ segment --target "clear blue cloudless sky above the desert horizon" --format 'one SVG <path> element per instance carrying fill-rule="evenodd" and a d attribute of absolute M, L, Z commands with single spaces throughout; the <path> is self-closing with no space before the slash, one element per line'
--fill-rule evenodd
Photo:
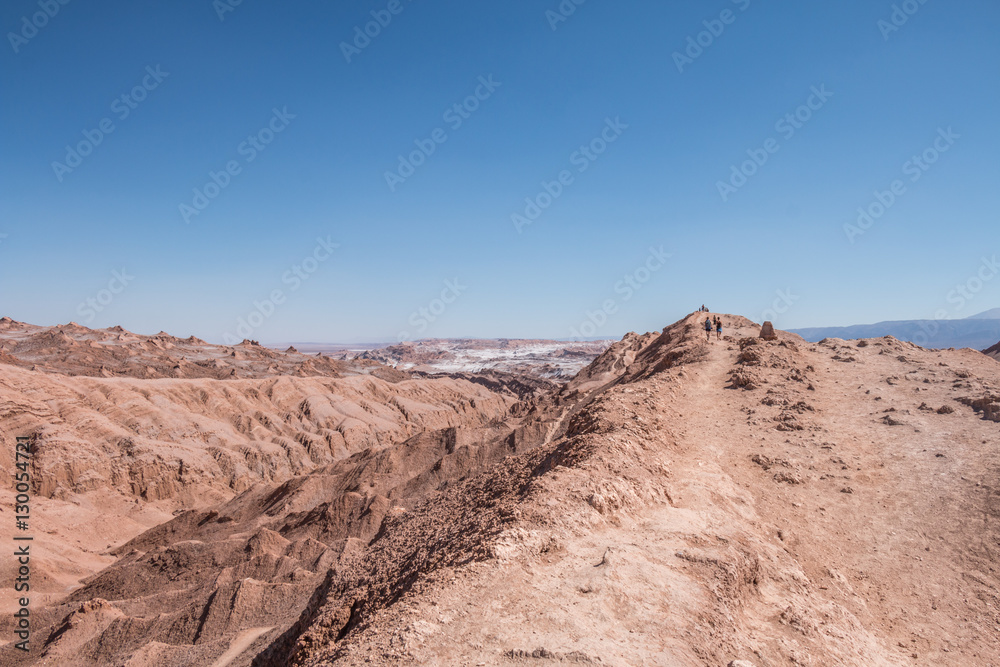
<path fill-rule="evenodd" d="M 566 20 L 546 15 L 556 0 L 244 0 L 220 19 L 225 1 L 3 3 L 0 314 L 218 341 L 257 301 L 253 338 L 348 342 L 564 338 L 606 302 L 584 333 L 611 337 L 702 303 L 759 319 L 778 290 L 783 328 L 1000 305 L 1000 276 L 949 299 L 1000 252 L 992 0 L 897 3 L 916 11 L 892 31 L 893 2 L 872 0 L 589 0 Z M 347 62 L 373 11 L 391 21 Z M 77 166 L 53 165 L 102 121 Z M 261 130 L 262 150 L 244 143 Z M 577 152 L 594 140 L 603 153 Z M 907 165 L 925 149 L 934 164 Z M 724 201 L 747 151 L 767 161 Z M 518 232 L 512 214 L 563 171 Z M 329 256 L 308 273 L 314 251 Z"/>

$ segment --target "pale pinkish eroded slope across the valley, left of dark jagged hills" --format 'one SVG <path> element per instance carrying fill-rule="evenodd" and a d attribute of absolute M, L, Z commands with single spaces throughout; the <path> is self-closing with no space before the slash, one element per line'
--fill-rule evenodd
<path fill-rule="evenodd" d="M 426 429 L 485 426 L 515 402 L 449 378 L 141 380 L 0 365 L 0 437 L 34 447 L 31 527 L 44 547 L 32 560 L 33 599 L 58 597 L 175 511 Z M 4 448 L 0 465 L 13 469 L 12 456 Z"/>

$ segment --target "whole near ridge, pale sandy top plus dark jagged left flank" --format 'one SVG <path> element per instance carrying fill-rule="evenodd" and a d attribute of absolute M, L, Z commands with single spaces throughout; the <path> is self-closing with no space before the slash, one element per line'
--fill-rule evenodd
<path fill-rule="evenodd" d="M 996 664 L 1000 367 L 723 318 L 180 514 L 37 664 Z"/>

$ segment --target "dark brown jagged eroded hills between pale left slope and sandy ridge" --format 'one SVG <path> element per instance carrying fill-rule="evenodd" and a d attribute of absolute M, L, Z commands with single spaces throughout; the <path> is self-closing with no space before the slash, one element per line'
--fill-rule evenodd
<path fill-rule="evenodd" d="M 146 531 L 83 588 L 35 611 L 45 648 L 28 662 L 212 664 L 248 632 L 237 653 L 260 652 L 295 626 L 330 568 L 365 557 L 388 516 L 543 435 L 531 418 L 519 429 L 467 421 L 257 484 Z"/>

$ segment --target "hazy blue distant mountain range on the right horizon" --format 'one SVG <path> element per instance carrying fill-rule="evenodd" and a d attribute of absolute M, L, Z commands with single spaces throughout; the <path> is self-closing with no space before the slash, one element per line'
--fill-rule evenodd
<path fill-rule="evenodd" d="M 893 336 L 930 348 L 971 347 L 985 350 L 1000 341 L 1000 308 L 961 320 L 897 320 L 847 327 L 789 329 L 808 341 L 824 338 L 881 338 Z"/>

